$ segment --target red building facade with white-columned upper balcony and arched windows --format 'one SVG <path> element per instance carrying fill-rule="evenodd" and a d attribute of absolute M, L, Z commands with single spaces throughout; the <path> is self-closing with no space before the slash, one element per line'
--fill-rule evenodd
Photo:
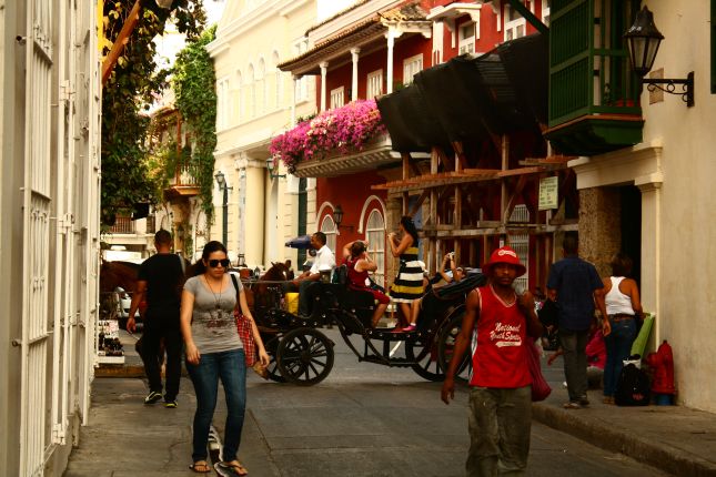
<path fill-rule="evenodd" d="M 526 9 L 545 21 L 548 19 L 549 9 L 546 2 L 530 2 Z M 314 75 L 319 84 L 319 111 L 335 110 L 336 114 L 342 114 L 342 108 L 351 108 L 350 104 L 344 106 L 350 101 L 379 99 L 381 105 L 382 98 L 400 95 L 411 88 L 416 90 L 413 83 L 424 70 L 461 54 L 478 57 L 504 41 L 535 31 L 532 24 L 516 13 L 510 2 L 355 2 L 309 29 L 309 50 L 283 62 L 280 68 L 298 77 Z M 426 110 L 413 112 L 418 116 L 433 114 Z M 410 123 L 411 114 L 397 108 L 393 111 L 391 121 L 386 118 L 391 112 L 381 108 L 381 113 L 389 125 L 390 134 L 377 135 L 360 150 L 347 154 L 343 151 L 332 151 L 320 160 L 306 160 L 295 165 L 294 174 L 298 176 L 316 177 L 316 227 L 329 235 L 332 247 L 340 250 L 343 244 L 355 238 L 369 240 L 371 251 L 382 265 L 379 268 L 379 281 L 390 278 L 397 270 L 397 263 L 385 253 L 385 230 L 394 229 L 402 214 L 410 214 L 427 238 L 423 241 L 423 256 L 431 271 L 440 263 L 438 256 L 451 250 L 457 252 L 463 264 L 478 266 L 484 255 L 500 240 L 510 241 L 511 237 L 520 235 L 518 240 L 524 242 L 522 255 L 525 258 L 531 254 L 531 248 L 542 247 L 542 266 L 533 267 L 532 285 L 543 283 L 546 264 L 553 257 L 551 252 L 545 253 L 544 250 L 552 251 L 552 241 L 537 245 L 536 241 L 530 240 L 526 225 L 544 223 L 547 217 L 542 214 L 541 220 L 537 220 L 536 206 L 533 206 L 532 220 L 528 216 L 526 220 L 520 219 L 525 222 L 520 234 L 507 233 L 505 226 L 506 222 L 511 221 L 511 213 L 515 206 L 516 215 L 525 215 L 524 201 L 518 197 L 521 194 L 516 193 L 517 189 L 521 192 L 524 186 L 515 187 L 512 186 L 512 180 L 503 181 L 510 181 L 505 185 L 512 187 L 510 191 L 516 201 L 507 204 L 506 210 L 511 213 L 506 216 L 504 213 L 495 213 L 495 217 L 486 220 L 485 216 L 468 217 L 465 213 L 465 223 L 455 224 L 455 204 L 460 204 L 462 199 L 455 200 L 454 184 L 463 183 L 467 186 L 466 183 L 472 182 L 472 185 L 476 186 L 478 181 L 473 180 L 474 177 L 441 177 L 438 183 L 432 186 L 424 183 L 400 184 L 400 180 L 446 172 L 447 162 L 438 165 L 437 162 L 431 164 L 431 160 L 437 160 L 436 158 L 445 152 L 445 149 L 441 152 L 438 146 L 447 145 L 447 155 L 451 156 L 454 156 L 456 151 L 452 150 L 450 140 L 438 144 L 430 143 L 427 138 L 421 144 L 396 146 L 391 123 Z M 480 121 L 480 118 L 470 119 Z M 430 135 L 430 132 L 426 134 Z M 544 158 L 547 146 L 541 134 L 537 134 L 537 138 L 542 144 L 533 151 L 532 158 Z M 468 140 L 472 141 L 472 138 Z M 501 141 L 502 139 L 497 139 L 498 143 Z M 497 144 L 496 149 L 501 148 L 502 145 Z M 468 149 L 468 154 L 473 155 L 473 165 L 464 163 L 461 166 L 476 168 L 480 153 L 472 145 Z M 518 165 L 517 155 L 513 166 Z M 525 156 L 521 159 L 524 160 Z M 452 159 L 450 163 L 451 168 L 455 166 Z M 562 161 L 562 166 L 564 164 L 565 161 Z M 484 164 L 481 166 L 484 168 Z M 533 182 L 537 177 L 536 174 L 545 171 L 544 168 L 531 171 Z M 453 192 L 446 193 L 445 186 L 451 187 Z M 431 194 L 435 195 L 431 199 Z M 452 199 L 448 199 L 448 195 Z M 498 195 L 500 192 L 497 202 Z M 531 201 L 534 202 L 534 196 Z M 457 207 L 462 209 L 462 205 Z M 487 209 L 492 209 L 492 205 L 485 207 Z M 336 217 L 341 219 L 341 223 L 336 224 Z M 483 226 L 475 226 L 478 222 Z M 494 226 L 495 222 L 498 223 L 497 227 Z M 517 224 L 512 225 L 513 231 L 518 227 Z M 556 229 L 574 227 L 576 216 L 572 222 L 563 221 Z M 543 232 L 549 236 L 554 230 L 553 224 L 545 224 L 543 227 Z M 480 241 L 476 242 L 478 246 L 475 246 L 475 241 L 466 238 L 472 235 L 467 231 L 480 235 Z M 486 236 L 495 237 L 495 241 L 484 240 Z"/>

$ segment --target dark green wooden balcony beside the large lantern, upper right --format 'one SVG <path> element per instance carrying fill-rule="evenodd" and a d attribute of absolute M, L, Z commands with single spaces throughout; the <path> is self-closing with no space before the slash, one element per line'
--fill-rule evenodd
<path fill-rule="evenodd" d="M 642 142 L 641 85 L 622 39 L 632 16 L 617 0 L 553 4 L 545 136 L 562 154 L 595 155 Z"/>

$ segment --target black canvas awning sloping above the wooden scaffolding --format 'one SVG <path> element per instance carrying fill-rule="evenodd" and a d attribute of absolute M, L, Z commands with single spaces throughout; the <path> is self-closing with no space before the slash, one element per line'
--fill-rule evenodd
<path fill-rule="evenodd" d="M 457 57 L 421 71 L 413 85 L 377 104 L 393 149 L 401 152 L 538 132 L 547 118 L 547 72 L 546 38 L 533 34 L 475 59 Z"/>

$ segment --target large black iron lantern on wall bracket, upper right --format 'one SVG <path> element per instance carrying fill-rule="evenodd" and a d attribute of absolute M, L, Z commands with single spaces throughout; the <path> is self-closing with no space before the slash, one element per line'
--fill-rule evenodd
<path fill-rule="evenodd" d="M 662 90 L 669 94 L 679 94 L 687 106 L 694 105 L 694 72 L 686 75 L 686 79 L 660 79 L 644 78 L 656 60 L 658 47 L 664 35 L 654 24 L 654 14 L 644 7 L 634 20 L 634 24 L 624 33 L 629 49 L 629 61 L 632 69 L 639 77 L 642 84 L 647 84 L 647 90 Z M 676 85 L 682 85 L 682 91 L 676 91 Z"/>

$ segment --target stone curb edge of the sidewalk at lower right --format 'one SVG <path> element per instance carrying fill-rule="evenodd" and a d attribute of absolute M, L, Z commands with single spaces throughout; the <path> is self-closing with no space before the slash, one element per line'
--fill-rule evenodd
<path fill-rule="evenodd" d="M 627 433 L 613 425 L 581 416 L 584 410 L 563 410 L 553 404 L 533 404 L 533 419 L 554 429 L 567 433 L 603 449 L 622 453 L 638 461 L 674 475 L 690 477 L 716 476 L 716 466 L 699 456 L 665 447 L 636 433 Z"/>

